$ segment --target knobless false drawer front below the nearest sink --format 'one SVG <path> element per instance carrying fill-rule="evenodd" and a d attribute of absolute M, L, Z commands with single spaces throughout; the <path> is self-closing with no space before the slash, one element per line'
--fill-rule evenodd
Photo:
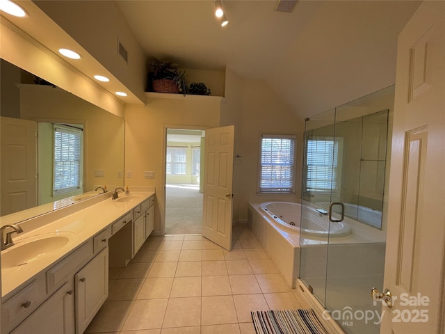
<path fill-rule="evenodd" d="M 56 285 L 62 282 L 62 280 L 72 273 L 74 270 L 78 270 L 90 260 L 92 257 L 92 241 L 88 241 L 71 253 L 64 260 L 58 262 L 54 267 L 47 271 L 47 289 L 51 291 Z"/>

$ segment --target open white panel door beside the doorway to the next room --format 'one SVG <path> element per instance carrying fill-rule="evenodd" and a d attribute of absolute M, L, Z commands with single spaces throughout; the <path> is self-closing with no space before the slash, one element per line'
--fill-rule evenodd
<path fill-rule="evenodd" d="M 206 130 L 202 236 L 232 249 L 233 125 Z"/>

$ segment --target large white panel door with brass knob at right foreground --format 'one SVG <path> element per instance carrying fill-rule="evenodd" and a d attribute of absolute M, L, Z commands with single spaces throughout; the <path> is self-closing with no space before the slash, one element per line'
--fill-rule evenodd
<path fill-rule="evenodd" d="M 398 38 L 381 333 L 444 333 L 445 1 Z"/>

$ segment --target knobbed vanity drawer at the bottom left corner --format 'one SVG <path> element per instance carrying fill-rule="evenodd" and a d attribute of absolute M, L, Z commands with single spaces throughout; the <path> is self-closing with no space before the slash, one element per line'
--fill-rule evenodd
<path fill-rule="evenodd" d="M 41 284 L 40 284 L 41 283 Z M 40 286 L 43 285 L 43 286 Z M 44 280 L 34 280 L 1 305 L 1 333 L 9 333 L 43 301 Z"/>

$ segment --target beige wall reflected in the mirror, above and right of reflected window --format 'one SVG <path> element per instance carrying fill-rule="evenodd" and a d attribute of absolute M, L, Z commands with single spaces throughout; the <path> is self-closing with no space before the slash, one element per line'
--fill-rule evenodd
<path fill-rule="evenodd" d="M 124 169 L 122 118 L 60 88 L 29 84 L 20 85 L 20 116 L 38 122 L 83 124 L 83 190 L 104 184 L 108 189 L 122 186 L 123 178 L 117 175 Z M 105 170 L 105 177 L 95 177 L 95 169 Z"/>

